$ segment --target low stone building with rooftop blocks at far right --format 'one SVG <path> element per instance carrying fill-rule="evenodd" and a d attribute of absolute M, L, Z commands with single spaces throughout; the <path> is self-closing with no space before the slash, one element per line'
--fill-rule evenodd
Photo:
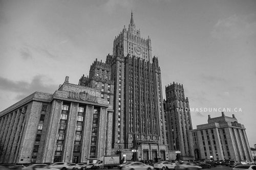
<path fill-rule="evenodd" d="M 189 139 L 195 159 L 252 161 L 245 127 L 234 114 L 229 117 L 222 112 L 222 116 L 214 118 L 208 115 L 208 124 L 190 130 Z"/>

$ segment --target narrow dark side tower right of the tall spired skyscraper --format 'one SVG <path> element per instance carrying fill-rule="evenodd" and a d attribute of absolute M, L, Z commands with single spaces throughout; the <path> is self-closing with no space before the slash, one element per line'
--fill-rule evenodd
<path fill-rule="evenodd" d="M 180 156 L 191 156 L 189 130 L 192 128 L 188 98 L 185 98 L 183 85 L 178 83 L 165 86 L 165 114 L 169 150 L 179 151 Z"/>

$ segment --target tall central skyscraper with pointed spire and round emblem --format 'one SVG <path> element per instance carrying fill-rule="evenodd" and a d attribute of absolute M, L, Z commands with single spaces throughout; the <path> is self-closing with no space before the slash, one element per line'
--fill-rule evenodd
<path fill-rule="evenodd" d="M 152 57 L 151 39 L 141 37 L 133 13 L 128 29 L 124 26 L 115 37 L 113 55 L 108 55 L 104 64 L 114 82 L 113 153 L 135 149 L 142 160 L 166 159 L 161 70 L 158 58 Z M 97 76 L 96 72 L 91 75 L 92 68 L 88 79 Z"/>

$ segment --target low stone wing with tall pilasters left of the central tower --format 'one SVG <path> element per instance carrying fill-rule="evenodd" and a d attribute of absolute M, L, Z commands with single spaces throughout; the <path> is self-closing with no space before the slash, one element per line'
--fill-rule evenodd
<path fill-rule="evenodd" d="M 0 163 L 90 162 L 112 145 L 113 104 L 70 84 L 34 92 L 0 112 Z"/>

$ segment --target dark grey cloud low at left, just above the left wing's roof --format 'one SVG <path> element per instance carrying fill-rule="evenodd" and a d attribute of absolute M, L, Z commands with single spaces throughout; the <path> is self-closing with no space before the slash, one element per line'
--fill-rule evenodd
<path fill-rule="evenodd" d="M 45 82 L 50 80 L 44 75 L 34 76 L 31 82 L 27 81 L 13 81 L 7 78 L 0 77 L 0 90 L 17 93 L 15 99 L 23 99 L 35 91 L 54 92 L 57 85 L 48 84 Z"/>

